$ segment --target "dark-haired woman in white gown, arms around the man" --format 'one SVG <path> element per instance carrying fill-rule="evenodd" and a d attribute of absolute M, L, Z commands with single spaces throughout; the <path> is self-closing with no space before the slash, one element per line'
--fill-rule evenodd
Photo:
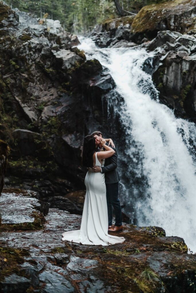
<path fill-rule="evenodd" d="M 85 245 L 113 245 L 123 243 L 124 237 L 108 234 L 108 210 L 106 201 L 105 173 L 92 172 L 96 165 L 103 167 L 105 159 L 113 156 L 115 151 L 107 146 L 100 137 L 105 151 L 96 152 L 95 137 L 87 135 L 83 144 L 83 166 L 88 172 L 85 177 L 86 196 L 83 207 L 80 230 L 67 231 L 62 234 L 63 241 Z"/>

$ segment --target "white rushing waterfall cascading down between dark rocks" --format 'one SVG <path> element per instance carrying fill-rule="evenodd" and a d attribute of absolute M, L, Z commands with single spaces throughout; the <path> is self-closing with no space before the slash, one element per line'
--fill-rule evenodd
<path fill-rule="evenodd" d="M 117 86 L 115 90 L 125 100 L 125 108 L 120 113 L 123 123 L 142 146 L 143 173 L 148 178 L 150 196 L 135 202 L 138 226 L 160 226 L 166 236 L 184 238 L 195 253 L 196 168 L 189 151 L 192 148 L 189 139 L 195 141 L 196 137 L 195 124 L 176 118 L 166 105 L 152 99 L 148 85 L 155 93 L 156 89 L 151 76 L 141 67 L 153 52 L 133 48 L 100 49 L 89 38 L 79 40 L 78 48 L 84 50 L 87 59 L 98 59 L 109 69 Z M 126 151 L 133 157 L 131 144 Z M 126 199 L 130 201 L 131 198 Z"/>

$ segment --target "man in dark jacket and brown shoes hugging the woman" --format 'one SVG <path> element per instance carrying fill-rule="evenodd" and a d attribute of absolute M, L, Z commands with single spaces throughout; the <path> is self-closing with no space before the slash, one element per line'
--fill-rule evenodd
<path fill-rule="evenodd" d="M 94 131 L 91 135 L 95 137 L 97 151 L 101 151 L 102 145 L 100 143 L 100 137 L 103 137 L 103 134 L 100 131 Z M 118 175 L 118 171 L 116 170 L 117 152 L 115 148 L 113 149 L 115 150 L 115 154 L 110 158 L 105 159 L 104 167 L 93 167 L 94 172 L 105 173 L 106 199 L 108 207 L 108 232 L 118 232 L 123 230 L 122 212 L 120 201 L 118 199 L 118 182 L 120 181 L 120 177 Z M 112 207 L 115 212 L 115 225 L 112 225 Z"/>

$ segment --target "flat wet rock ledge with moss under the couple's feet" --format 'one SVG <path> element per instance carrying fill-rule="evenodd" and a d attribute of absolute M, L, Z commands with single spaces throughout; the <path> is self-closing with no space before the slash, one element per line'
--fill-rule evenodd
<path fill-rule="evenodd" d="M 27 202 L 28 196 L 24 190 L 3 193 L 2 218 L 16 201 L 24 209 L 28 205 L 26 216 L 31 214 L 30 202 L 39 202 L 36 197 Z M 165 236 L 162 228 L 123 224 L 118 235 L 124 243 L 85 246 L 61 240 L 62 232 L 80 229 L 81 216 L 50 208 L 44 218 L 41 229 L 21 230 L 24 221 L 13 210 L 15 226 L 0 237 L 0 256 L 6 258 L 0 267 L 1 292 L 195 292 L 196 255 L 187 254 L 183 239 Z"/>

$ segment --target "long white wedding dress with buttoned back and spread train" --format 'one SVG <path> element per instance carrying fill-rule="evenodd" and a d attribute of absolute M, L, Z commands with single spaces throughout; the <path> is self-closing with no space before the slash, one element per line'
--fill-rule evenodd
<path fill-rule="evenodd" d="M 96 157 L 96 166 L 104 166 Z M 84 245 L 113 245 L 123 243 L 124 237 L 108 234 L 108 209 L 106 201 L 105 174 L 90 170 L 85 177 L 86 197 L 84 201 L 80 230 L 67 231 L 62 234 L 63 241 Z"/>

